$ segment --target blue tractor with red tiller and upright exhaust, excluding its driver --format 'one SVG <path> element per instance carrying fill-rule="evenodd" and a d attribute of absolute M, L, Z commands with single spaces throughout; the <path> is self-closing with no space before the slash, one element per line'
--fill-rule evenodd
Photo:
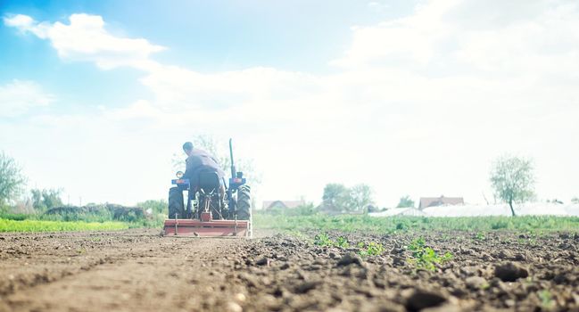
<path fill-rule="evenodd" d="M 252 236 L 251 188 L 243 172 L 236 171 L 229 139 L 231 177 L 227 187 L 216 172 L 201 171 L 196 185 L 177 172 L 169 191 L 169 218 L 165 235 Z M 224 191 L 225 190 L 225 193 Z M 185 193 L 185 195 L 184 195 Z"/>

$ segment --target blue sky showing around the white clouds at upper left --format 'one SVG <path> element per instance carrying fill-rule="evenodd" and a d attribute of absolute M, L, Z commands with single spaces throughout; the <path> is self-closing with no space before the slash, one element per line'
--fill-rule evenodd
<path fill-rule="evenodd" d="M 388 10 L 383 5 L 360 1 L 3 1 L 0 8 L 3 15 L 27 14 L 37 21 L 67 21 L 76 12 L 106 16 L 112 34 L 146 37 L 167 46 L 153 56 L 155 60 L 200 72 L 253 66 L 324 72 L 332 70 L 327 60 L 337 57 L 350 42 L 352 25 L 377 22 L 413 8 L 411 2 L 388 4 Z M 136 81 L 135 70 L 103 72 L 90 63 L 62 62 L 47 42 L 4 25 L 0 39 L 5 47 L 0 51 L 4 61 L 0 81 L 33 79 L 65 94 L 58 106 L 67 110 L 74 103 L 123 105 L 147 93 Z"/>

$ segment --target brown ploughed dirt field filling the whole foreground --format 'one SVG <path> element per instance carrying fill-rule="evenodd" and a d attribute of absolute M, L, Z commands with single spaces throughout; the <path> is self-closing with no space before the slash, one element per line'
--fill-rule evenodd
<path fill-rule="evenodd" d="M 454 255 L 436 271 L 409 264 L 413 235 L 346 236 L 385 253 L 283 235 L 0 234 L 0 311 L 579 311 L 576 234 L 425 235 Z"/>

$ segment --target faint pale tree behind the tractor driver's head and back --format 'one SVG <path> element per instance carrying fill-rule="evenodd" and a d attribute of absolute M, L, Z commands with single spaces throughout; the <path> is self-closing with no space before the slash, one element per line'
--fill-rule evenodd
<path fill-rule="evenodd" d="M 231 172 L 231 160 L 229 159 L 229 143 L 227 140 L 217 139 L 211 135 L 195 135 L 191 142 L 194 148 L 202 149 L 215 157 L 219 166 L 225 171 L 228 177 L 229 172 Z M 238 158 L 235 152 L 236 151 L 234 151 L 236 170 L 244 173 L 244 177 L 247 177 L 248 184 L 251 185 L 252 188 L 260 185 L 261 173 L 255 168 L 253 160 L 249 158 Z M 184 170 L 185 159 L 186 155 L 183 154 L 183 151 L 173 154 L 173 168 L 176 170 Z"/>

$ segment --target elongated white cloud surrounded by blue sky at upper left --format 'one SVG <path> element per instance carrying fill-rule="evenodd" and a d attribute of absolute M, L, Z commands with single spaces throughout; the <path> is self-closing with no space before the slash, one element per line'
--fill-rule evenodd
<path fill-rule="evenodd" d="M 95 62 L 102 69 L 146 66 L 152 53 L 162 51 L 143 38 L 115 37 L 104 29 L 101 16 L 72 14 L 69 24 L 37 23 L 27 15 L 5 17 L 7 26 L 29 31 L 51 42 L 64 60 Z"/>

